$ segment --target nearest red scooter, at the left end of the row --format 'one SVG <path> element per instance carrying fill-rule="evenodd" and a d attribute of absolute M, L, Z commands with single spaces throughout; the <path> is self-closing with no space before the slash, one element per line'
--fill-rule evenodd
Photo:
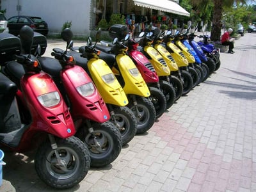
<path fill-rule="evenodd" d="M 20 32 L 25 42 L 31 42 L 32 36 Z M 76 129 L 67 105 L 35 56 L 21 54 L 12 61 L 20 52 L 19 38 L 1 33 L 0 44 L 1 148 L 14 152 L 35 149 L 40 179 L 52 188 L 72 188 L 86 176 L 90 154 L 74 136 Z"/>

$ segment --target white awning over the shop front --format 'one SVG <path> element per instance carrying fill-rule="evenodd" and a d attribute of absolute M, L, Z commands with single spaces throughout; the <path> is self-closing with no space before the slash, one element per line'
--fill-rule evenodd
<path fill-rule="evenodd" d="M 135 5 L 160 10 L 162 12 L 175 13 L 189 17 L 189 12 L 184 10 L 179 4 L 168 0 L 133 0 Z"/>

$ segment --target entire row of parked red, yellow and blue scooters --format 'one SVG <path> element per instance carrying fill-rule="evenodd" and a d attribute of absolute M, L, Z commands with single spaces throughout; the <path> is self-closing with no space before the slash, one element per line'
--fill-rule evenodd
<path fill-rule="evenodd" d="M 36 172 L 52 188 L 72 188 L 90 166 L 112 163 L 220 67 L 208 36 L 197 43 L 193 34 L 149 28 L 131 39 L 125 28 L 109 29 L 108 46 L 99 30 L 95 44 L 89 37 L 81 47 L 64 29 L 67 48 L 54 48 L 53 57 L 43 56 L 47 40 L 29 26 L 18 37 L 0 34 L 1 148 L 36 149 Z"/>

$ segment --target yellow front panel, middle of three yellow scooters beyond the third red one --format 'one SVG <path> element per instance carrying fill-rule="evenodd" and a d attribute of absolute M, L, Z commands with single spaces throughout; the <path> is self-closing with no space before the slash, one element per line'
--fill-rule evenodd
<path fill-rule="evenodd" d="M 179 70 L 178 65 L 176 61 L 173 59 L 170 52 L 168 52 L 162 45 L 156 44 L 154 45 L 154 48 L 163 56 L 164 60 L 166 61 L 166 64 L 168 65 L 170 71 L 177 71 Z"/>

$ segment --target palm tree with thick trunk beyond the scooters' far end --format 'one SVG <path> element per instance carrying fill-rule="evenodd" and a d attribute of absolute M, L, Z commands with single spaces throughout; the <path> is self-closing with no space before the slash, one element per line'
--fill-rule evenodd
<path fill-rule="evenodd" d="M 213 8 L 213 15 L 212 15 L 212 30 L 211 30 L 211 40 L 212 41 L 218 41 L 220 40 L 221 36 L 221 27 L 222 27 L 222 22 L 221 22 L 221 17 L 222 17 L 222 12 L 223 12 L 223 7 L 231 7 L 234 3 L 239 4 L 239 3 L 246 3 L 246 0 L 191 0 L 191 3 L 198 7 L 202 6 L 202 4 L 209 4 L 209 3 L 214 3 L 214 8 Z"/>

